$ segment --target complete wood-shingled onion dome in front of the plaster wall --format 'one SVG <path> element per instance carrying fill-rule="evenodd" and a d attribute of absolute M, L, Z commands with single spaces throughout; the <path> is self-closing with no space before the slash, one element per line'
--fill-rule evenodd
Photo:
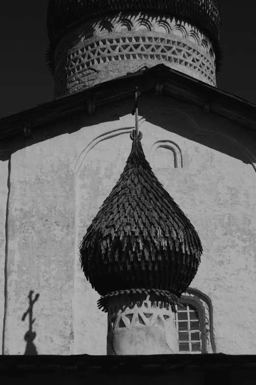
<path fill-rule="evenodd" d="M 86 278 L 101 296 L 154 289 L 180 297 L 197 272 L 202 251 L 195 228 L 134 139 L 123 173 L 81 242 Z"/>

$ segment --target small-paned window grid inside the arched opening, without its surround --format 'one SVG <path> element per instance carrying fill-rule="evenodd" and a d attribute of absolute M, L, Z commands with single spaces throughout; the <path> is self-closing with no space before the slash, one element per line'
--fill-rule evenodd
<path fill-rule="evenodd" d="M 202 353 L 202 320 L 199 309 L 188 302 L 181 302 L 183 307 L 176 306 L 176 327 L 179 336 L 179 353 Z"/>

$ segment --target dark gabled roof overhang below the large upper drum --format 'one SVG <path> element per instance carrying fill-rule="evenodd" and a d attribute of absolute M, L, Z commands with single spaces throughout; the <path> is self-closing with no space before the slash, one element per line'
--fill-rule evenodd
<path fill-rule="evenodd" d="M 95 108 L 133 97 L 135 86 L 143 94 L 157 92 L 160 85 L 163 95 L 196 105 L 256 132 L 256 105 L 158 64 L 0 118 L 0 138 L 16 136 L 24 132 L 27 125 L 33 132 L 37 127 L 83 111 L 91 115 Z"/>

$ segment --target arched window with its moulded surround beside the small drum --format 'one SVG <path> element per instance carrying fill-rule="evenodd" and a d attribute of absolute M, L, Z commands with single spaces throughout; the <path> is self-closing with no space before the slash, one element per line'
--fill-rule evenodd
<path fill-rule="evenodd" d="M 209 297 L 196 289 L 181 296 L 183 307 L 177 306 L 176 327 L 180 354 L 216 353 Z"/>

